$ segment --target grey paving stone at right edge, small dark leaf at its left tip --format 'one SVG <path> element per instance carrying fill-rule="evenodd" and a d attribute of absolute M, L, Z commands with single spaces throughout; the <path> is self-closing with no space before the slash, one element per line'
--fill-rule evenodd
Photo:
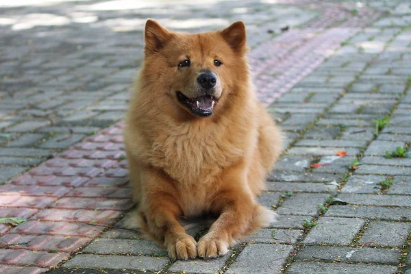
<path fill-rule="evenodd" d="M 411 197 L 405 195 L 340 194 L 338 198 L 361 206 L 411 206 Z"/>

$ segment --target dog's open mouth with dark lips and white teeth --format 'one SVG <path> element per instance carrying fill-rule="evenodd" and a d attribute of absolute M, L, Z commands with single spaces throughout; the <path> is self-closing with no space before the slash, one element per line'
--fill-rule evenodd
<path fill-rule="evenodd" d="M 214 105 L 218 102 L 212 95 L 203 95 L 197 98 L 188 98 L 182 92 L 177 91 L 177 99 L 185 105 L 191 112 L 198 116 L 210 116 L 214 110 Z"/>

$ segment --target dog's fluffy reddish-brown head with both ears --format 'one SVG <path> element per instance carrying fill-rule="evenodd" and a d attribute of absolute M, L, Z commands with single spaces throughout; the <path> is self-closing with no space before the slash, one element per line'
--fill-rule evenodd
<path fill-rule="evenodd" d="M 149 19 L 142 80 L 158 92 L 156 99 L 167 109 L 211 116 L 230 92 L 236 92 L 236 85 L 247 83 L 240 79 L 248 77 L 245 43 L 242 22 L 217 32 L 185 34 L 169 32 Z"/>

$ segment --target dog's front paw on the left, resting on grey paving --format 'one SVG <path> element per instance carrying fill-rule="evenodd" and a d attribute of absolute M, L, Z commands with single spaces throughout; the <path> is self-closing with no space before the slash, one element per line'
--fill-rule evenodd
<path fill-rule="evenodd" d="M 197 257 L 197 242 L 188 234 L 172 236 L 166 242 L 169 257 L 173 260 L 188 260 Z"/>

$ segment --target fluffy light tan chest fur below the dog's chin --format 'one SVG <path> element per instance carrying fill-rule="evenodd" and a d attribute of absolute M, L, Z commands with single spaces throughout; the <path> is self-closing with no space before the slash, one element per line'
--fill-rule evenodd
<path fill-rule="evenodd" d="M 180 184 L 210 183 L 225 167 L 246 154 L 238 135 L 248 135 L 247 131 L 230 134 L 221 127 L 186 123 L 169 129 L 153 142 L 151 162 Z"/>

